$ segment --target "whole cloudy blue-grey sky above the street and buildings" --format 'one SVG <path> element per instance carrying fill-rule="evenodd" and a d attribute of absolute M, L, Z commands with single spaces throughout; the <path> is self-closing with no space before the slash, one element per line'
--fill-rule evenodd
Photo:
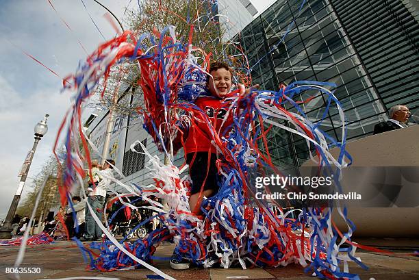
<path fill-rule="evenodd" d="M 121 22 L 126 19 L 125 7 L 138 5 L 137 0 L 99 1 Z M 251 2 L 262 11 L 274 1 Z M 92 0 L 0 0 L 0 3 L 0 218 L 5 218 L 18 188 L 18 172 L 34 144 L 34 127 L 45 114 L 50 115 L 49 130 L 36 149 L 23 196 L 52 155 L 58 128 L 73 96 L 73 92 L 62 92 L 62 77 L 74 73 L 79 61 L 105 41 L 101 34 L 110 40 L 116 31 L 103 16 L 107 11 Z"/>

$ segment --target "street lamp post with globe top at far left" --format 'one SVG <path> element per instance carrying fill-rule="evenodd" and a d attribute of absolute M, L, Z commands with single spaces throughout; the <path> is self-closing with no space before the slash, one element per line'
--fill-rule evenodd
<path fill-rule="evenodd" d="M 19 186 L 16 191 L 16 194 L 14 194 L 12 205 L 10 205 L 10 208 L 9 208 L 8 216 L 6 216 L 4 225 L 0 229 L 0 238 L 12 238 L 12 233 L 11 233 L 12 220 L 14 218 L 14 215 L 16 214 L 16 208 L 18 206 L 18 203 L 21 200 L 23 186 L 25 186 L 27 173 L 29 173 L 29 168 L 31 167 L 32 159 L 34 158 L 34 153 L 35 153 L 36 147 L 38 146 L 38 142 L 39 140 L 41 140 L 42 136 L 44 136 L 48 131 L 48 126 L 47 126 L 48 117 L 49 117 L 49 114 L 46 114 L 44 119 L 35 125 L 34 147 L 32 147 L 31 151 L 29 152 L 29 158 L 27 159 L 27 162 L 25 162 L 26 164 L 26 167 L 24 167 L 25 171 L 23 172 L 21 181 L 19 182 Z"/>

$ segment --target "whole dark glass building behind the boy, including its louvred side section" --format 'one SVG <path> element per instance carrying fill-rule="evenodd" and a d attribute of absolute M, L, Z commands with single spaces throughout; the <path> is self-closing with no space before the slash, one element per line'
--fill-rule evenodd
<path fill-rule="evenodd" d="M 408 2 L 278 0 L 235 40 L 262 89 L 301 80 L 335 83 L 347 139 L 355 140 L 370 136 L 393 105 L 419 107 L 418 12 Z M 315 121 L 325 100 L 318 96 L 303 106 Z M 320 128 L 340 140 L 341 127 L 331 108 Z M 283 130 L 270 133 L 268 143 L 279 166 L 299 166 L 309 155 L 305 140 Z"/>

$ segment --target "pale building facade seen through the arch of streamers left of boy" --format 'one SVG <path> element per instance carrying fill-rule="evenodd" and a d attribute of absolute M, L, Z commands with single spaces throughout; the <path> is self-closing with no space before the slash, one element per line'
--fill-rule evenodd
<path fill-rule="evenodd" d="M 137 88 L 121 88 L 120 99 L 116 107 L 125 106 L 126 104 L 136 104 L 142 99 L 142 93 L 140 87 Z M 103 151 L 107 123 L 110 117 L 110 111 L 101 110 L 95 112 L 96 115 L 88 125 L 87 135 L 95 149 L 101 152 Z M 131 114 L 120 114 L 116 112 L 112 120 L 112 129 L 110 130 L 110 144 L 109 150 L 107 151 L 107 159 L 115 161 L 115 166 L 123 173 L 124 177 L 121 178 L 116 172 L 114 176 L 120 179 L 123 183 L 138 183 L 141 185 L 147 185 L 153 183 L 147 173 L 149 170 L 145 168 L 147 165 L 147 157 L 142 153 L 142 147 L 140 142 L 147 148 L 147 151 L 151 155 L 157 155 L 160 160 L 164 161 L 164 154 L 157 151 L 157 147 L 153 143 L 149 133 L 142 127 L 142 119 L 140 116 L 131 111 Z M 132 151 L 131 149 L 134 149 Z M 92 159 L 99 159 L 97 152 L 93 149 L 90 151 Z M 178 157 L 177 157 L 178 158 Z M 176 162 L 176 164 L 178 164 Z M 116 186 L 118 192 L 122 192 L 122 188 Z"/>

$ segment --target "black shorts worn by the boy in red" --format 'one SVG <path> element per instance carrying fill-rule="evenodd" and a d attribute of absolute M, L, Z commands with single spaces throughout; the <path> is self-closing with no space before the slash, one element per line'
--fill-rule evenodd
<path fill-rule="evenodd" d="M 194 162 L 192 162 L 194 155 L 196 156 Z M 208 152 L 188 153 L 186 155 L 186 163 L 189 164 L 189 175 L 192 179 L 192 188 L 190 190 L 191 195 L 201 192 L 201 187 L 204 181 L 205 184 L 203 186 L 203 190 L 214 190 L 214 194 L 218 192 L 218 169 L 216 166 L 217 156 L 215 153 L 211 153 L 210 155 L 210 164 L 208 164 Z M 191 162 L 192 166 L 190 164 Z M 206 180 L 205 177 L 207 177 Z"/>

